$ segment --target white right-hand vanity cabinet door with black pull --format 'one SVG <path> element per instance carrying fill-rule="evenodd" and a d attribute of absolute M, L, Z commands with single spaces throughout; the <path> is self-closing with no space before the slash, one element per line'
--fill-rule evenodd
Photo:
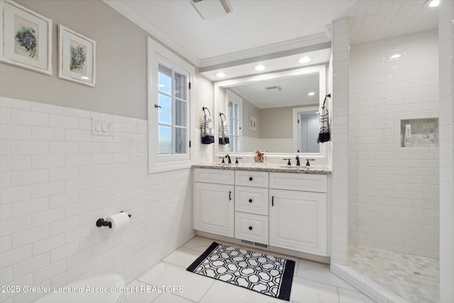
<path fill-rule="evenodd" d="M 326 255 L 326 194 L 270 189 L 270 245 Z"/>

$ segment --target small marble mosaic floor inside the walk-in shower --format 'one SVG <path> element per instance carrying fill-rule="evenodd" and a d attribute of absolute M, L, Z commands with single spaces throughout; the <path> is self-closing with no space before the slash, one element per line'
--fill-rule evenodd
<path fill-rule="evenodd" d="M 409 302 L 439 302 L 437 259 L 350 246 L 348 266 Z"/>

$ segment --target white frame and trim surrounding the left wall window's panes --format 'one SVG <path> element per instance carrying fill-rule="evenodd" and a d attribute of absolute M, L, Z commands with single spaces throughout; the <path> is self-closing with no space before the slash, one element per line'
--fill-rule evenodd
<path fill-rule="evenodd" d="M 176 155 L 159 155 L 158 150 L 158 87 L 157 73 L 158 65 L 166 65 L 174 70 L 184 71 L 188 74 L 187 81 L 191 83 L 188 89 L 188 122 L 187 122 L 187 153 Z M 194 129 L 194 77 L 195 68 L 181 57 L 175 55 L 164 46 L 157 43 L 152 38 L 148 38 L 148 172 L 167 172 L 170 170 L 180 170 L 189 168 L 192 165 L 191 159 L 194 158 L 194 148 L 189 148 L 189 142 L 192 142 L 192 129 Z M 172 80 L 173 81 L 173 80 Z M 173 138 L 172 138 L 173 140 Z"/>

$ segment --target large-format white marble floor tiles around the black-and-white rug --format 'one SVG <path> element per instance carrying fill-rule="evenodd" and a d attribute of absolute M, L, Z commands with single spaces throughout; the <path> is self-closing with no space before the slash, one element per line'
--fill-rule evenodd
<path fill-rule="evenodd" d="M 194 237 L 167 255 L 153 268 L 133 280 L 127 287 L 137 292 L 128 293 L 130 303 L 283 303 L 265 294 L 230 285 L 209 277 L 188 272 L 186 268 L 208 248 L 213 240 Z M 235 244 L 216 241 L 230 246 Z M 292 256 L 265 252 L 255 248 L 242 248 L 279 255 L 296 262 L 290 302 L 293 303 L 370 303 L 354 287 L 330 272 L 329 266 Z M 153 288 L 154 287 L 154 288 Z"/>

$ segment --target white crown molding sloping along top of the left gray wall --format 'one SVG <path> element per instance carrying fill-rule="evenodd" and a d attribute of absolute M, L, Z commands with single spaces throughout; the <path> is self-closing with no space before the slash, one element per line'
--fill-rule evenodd
<path fill-rule="evenodd" d="M 103 0 L 104 3 L 111 6 L 112 9 L 118 11 L 123 16 L 131 20 L 137 26 L 142 28 L 144 31 L 148 32 L 153 38 L 156 38 L 163 43 L 168 48 L 174 50 L 178 55 L 184 57 L 189 62 L 192 62 L 193 65 L 199 67 L 201 65 L 201 60 L 199 57 L 191 53 L 187 48 L 184 48 L 181 44 L 179 44 L 176 40 L 170 38 L 169 35 L 165 34 L 164 32 L 160 31 L 159 28 L 148 22 L 146 18 L 134 11 L 131 6 L 128 5 L 128 1 L 116 1 L 116 0 Z"/>

